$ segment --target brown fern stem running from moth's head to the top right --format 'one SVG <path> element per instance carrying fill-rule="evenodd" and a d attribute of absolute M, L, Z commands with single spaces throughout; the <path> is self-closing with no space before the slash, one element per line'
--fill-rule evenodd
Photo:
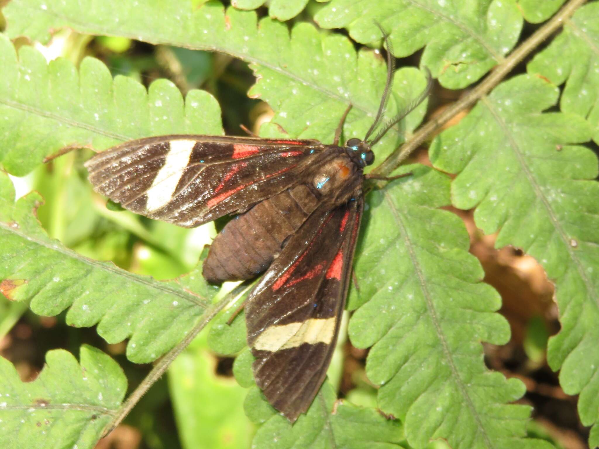
<path fill-rule="evenodd" d="M 429 136 L 438 132 L 445 123 L 449 122 L 453 117 L 461 111 L 476 103 L 480 98 L 489 93 L 497 84 L 506 77 L 512 69 L 518 65 L 525 57 L 528 56 L 536 47 L 546 40 L 553 32 L 563 25 L 565 20 L 576 12 L 576 10 L 586 3 L 586 0 L 570 0 L 559 13 L 555 14 L 547 23 L 539 28 L 530 38 L 522 43 L 515 51 L 510 54 L 502 63 L 495 66 L 493 71 L 482 81 L 478 86 L 474 87 L 464 96 L 464 98 L 456 101 L 453 105 L 443 111 L 435 119 L 429 120 L 426 125 L 422 126 L 415 134 L 412 135 L 406 143 L 400 148 L 397 148 L 393 153 L 383 161 L 371 173 L 388 176 L 406 158 L 416 150 Z"/>

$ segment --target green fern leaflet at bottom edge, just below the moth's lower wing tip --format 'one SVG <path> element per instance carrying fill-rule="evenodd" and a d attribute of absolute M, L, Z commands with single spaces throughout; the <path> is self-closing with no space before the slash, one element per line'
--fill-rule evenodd
<path fill-rule="evenodd" d="M 399 449 L 401 425 L 386 420 L 371 408 L 337 401 L 325 382 L 307 414 L 292 426 L 281 415 L 273 415 L 256 432 L 253 447 L 260 449 Z M 263 399 L 264 401 L 264 399 Z"/>

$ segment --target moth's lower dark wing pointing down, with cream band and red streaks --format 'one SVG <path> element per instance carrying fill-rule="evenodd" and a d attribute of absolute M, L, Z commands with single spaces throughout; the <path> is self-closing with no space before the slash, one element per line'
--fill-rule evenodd
<path fill-rule="evenodd" d="M 317 208 L 246 305 L 256 384 L 292 422 L 310 406 L 331 362 L 362 209 L 361 193 L 333 210 Z"/>

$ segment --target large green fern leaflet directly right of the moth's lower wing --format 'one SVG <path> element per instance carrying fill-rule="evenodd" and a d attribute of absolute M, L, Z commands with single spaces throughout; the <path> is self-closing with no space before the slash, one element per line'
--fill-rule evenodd
<path fill-rule="evenodd" d="M 480 281 L 470 240 L 449 204 L 449 178 L 425 166 L 368 198 L 368 223 L 355 263 L 359 296 L 349 323 L 352 344 L 372 346 L 368 378 L 380 384 L 379 407 L 405 424 L 407 441 L 423 447 L 551 447 L 524 439 L 531 408 L 508 405 L 524 384 L 490 372 L 483 341 L 505 344 L 500 297 Z M 385 232 L 382 232 L 382 229 Z M 392 268 L 392 269 L 390 269 Z"/>

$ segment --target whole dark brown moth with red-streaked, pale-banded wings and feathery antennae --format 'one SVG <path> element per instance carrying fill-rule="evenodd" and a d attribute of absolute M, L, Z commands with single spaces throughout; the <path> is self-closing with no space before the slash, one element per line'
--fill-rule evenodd
<path fill-rule="evenodd" d="M 390 42 L 385 91 L 364 139 L 339 146 L 317 140 L 210 135 L 138 139 L 85 164 L 96 192 L 156 220 L 195 227 L 234 214 L 203 265 L 211 283 L 265 271 L 245 304 L 256 384 L 294 422 L 326 375 L 344 309 L 364 210 L 371 147 L 428 96 L 383 123 L 394 59 Z"/>

